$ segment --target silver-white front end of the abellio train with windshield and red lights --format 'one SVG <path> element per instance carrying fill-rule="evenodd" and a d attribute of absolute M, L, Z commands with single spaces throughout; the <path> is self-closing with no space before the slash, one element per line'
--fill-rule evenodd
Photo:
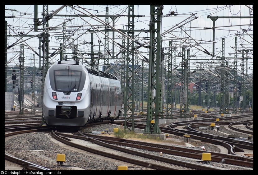
<path fill-rule="evenodd" d="M 47 125 L 86 124 L 90 110 L 87 80 L 87 72 L 78 64 L 60 63 L 49 68 L 44 84 L 42 117 Z"/>

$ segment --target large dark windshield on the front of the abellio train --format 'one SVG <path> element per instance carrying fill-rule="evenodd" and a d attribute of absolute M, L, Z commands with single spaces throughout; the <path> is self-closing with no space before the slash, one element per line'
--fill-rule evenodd
<path fill-rule="evenodd" d="M 55 70 L 54 77 L 57 91 L 78 92 L 81 81 L 81 71 Z"/>

